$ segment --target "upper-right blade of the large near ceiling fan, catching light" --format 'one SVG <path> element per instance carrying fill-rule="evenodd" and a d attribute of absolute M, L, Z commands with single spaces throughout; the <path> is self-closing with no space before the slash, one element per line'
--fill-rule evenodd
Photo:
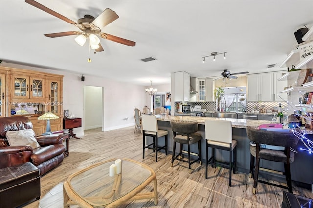
<path fill-rule="evenodd" d="M 92 29 L 101 30 L 104 26 L 112 23 L 119 16 L 109 8 L 106 8 L 96 19 L 92 21 L 90 26 Z"/>

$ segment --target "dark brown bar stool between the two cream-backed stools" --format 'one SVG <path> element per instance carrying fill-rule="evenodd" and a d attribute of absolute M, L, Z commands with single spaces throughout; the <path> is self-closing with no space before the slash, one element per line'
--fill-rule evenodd
<path fill-rule="evenodd" d="M 173 153 L 172 153 L 172 166 L 174 160 L 182 162 L 188 162 L 189 173 L 191 173 L 191 165 L 197 161 L 201 165 L 201 135 L 196 133 L 198 131 L 198 122 L 181 122 L 171 120 L 171 129 L 173 131 Z M 175 156 L 176 143 L 179 143 L 179 154 Z M 198 143 L 198 154 L 190 152 L 190 145 Z M 183 159 L 183 145 L 186 144 L 188 148 L 188 161 Z M 193 162 L 191 162 L 190 155 L 195 154 L 198 156 Z M 180 156 L 180 157 L 179 157 Z"/>

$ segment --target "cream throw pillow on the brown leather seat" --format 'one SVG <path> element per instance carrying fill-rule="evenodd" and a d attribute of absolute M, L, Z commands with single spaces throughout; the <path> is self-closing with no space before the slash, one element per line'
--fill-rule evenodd
<path fill-rule="evenodd" d="M 40 147 L 35 138 L 35 132 L 32 129 L 23 129 L 19 131 L 7 131 L 6 139 L 10 146 L 31 146 L 33 149 Z"/>

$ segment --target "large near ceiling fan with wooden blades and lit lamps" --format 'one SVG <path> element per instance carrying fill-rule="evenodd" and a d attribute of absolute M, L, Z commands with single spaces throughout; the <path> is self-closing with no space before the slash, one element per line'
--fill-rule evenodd
<path fill-rule="evenodd" d="M 119 18 L 119 16 L 112 11 L 109 8 L 106 8 L 98 17 L 94 18 L 91 15 L 85 15 L 84 18 L 78 19 L 77 23 L 68 19 L 67 17 L 45 7 L 44 5 L 38 3 L 34 0 L 25 0 L 26 3 L 29 3 L 32 6 L 37 7 L 38 9 L 41 9 L 57 18 L 60 18 L 61 20 L 70 23 L 72 25 L 75 25 L 78 27 L 81 31 L 68 31 L 68 32 L 58 32 L 58 33 L 50 33 L 50 34 L 44 34 L 46 37 L 50 38 L 56 38 L 56 37 L 62 37 L 62 36 L 69 36 L 69 35 L 78 35 L 75 38 L 75 41 L 83 46 L 89 38 L 90 40 L 90 47 L 94 49 L 97 52 L 104 51 L 103 47 L 101 46 L 100 39 L 98 36 L 104 39 L 108 39 L 110 41 L 114 41 L 120 44 L 124 44 L 127 46 L 135 46 L 136 42 L 130 41 L 124 38 L 120 38 L 114 35 L 110 35 L 107 33 L 101 32 L 101 29 L 108 25 L 109 23 L 112 23 L 114 20 Z"/>

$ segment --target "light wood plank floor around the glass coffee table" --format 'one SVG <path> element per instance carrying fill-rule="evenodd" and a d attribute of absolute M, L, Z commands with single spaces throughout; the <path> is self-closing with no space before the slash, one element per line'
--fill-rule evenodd
<path fill-rule="evenodd" d="M 85 131 L 82 139 L 70 139 L 69 157 L 61 165 L 41 178 L 41 198 L 25 208 L 62 208 L 63 182 L 67 177 L 90 164 L 110 158 L 131 158 L 154 169 L 158 185 L 158 205 L 153 200 L 129 202 L 126 208 L 280 208 L 283 190 L 258 184 L 252 194 L 253 180 L 246 174 L 233 174 L 232 187 L 228 186 L 228 170 L 209 167 L 205 179 L 205 165 L 194 163 L 189 174 L 187 163 L 175 161 L 171 167 L 171 155 L 146 150 L 142 159 L 142 134 L 134 128 L 101 132 L 101 129 Z M 152 190 L 152 184 L 147 189 Z M 25 190 L 27 191 L 27 190 Z M 313 198 L 310 190 L 294 187 L 294 194 Z M 71 206 L 77 208 L 78 206 Z"/>

